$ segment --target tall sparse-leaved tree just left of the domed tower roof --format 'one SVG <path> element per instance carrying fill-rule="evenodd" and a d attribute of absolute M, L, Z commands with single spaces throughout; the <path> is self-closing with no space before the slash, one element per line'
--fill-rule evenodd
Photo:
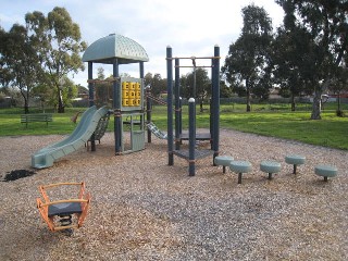
<path fill-rule="evenodd" d="M 55 87 L 58 112 L 64 112 L 63 79 L 69 73 L 84 70 L 79 53 L 87 48 L 87 44 L 82 41 L 79 26 L 64 8 L 54 8 L 47 17 L 40 12 L 27 13 L 25 21 L 46 70 L 42 79 Z"/>

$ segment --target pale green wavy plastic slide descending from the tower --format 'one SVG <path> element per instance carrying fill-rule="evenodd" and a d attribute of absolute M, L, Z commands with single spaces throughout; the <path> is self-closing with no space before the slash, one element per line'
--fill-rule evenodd
<path fill-rule="evenodd" d="M 96 130 L 99 120 L 108 113 L 105 107 L 97 110 L 96 107 L 88 108 L 71 136 L 38 150 L 32 156 L 32 166 L 45 169 L 53 165 L 53 162 L 69 153 L 85 146 L 87 140 Z"/>

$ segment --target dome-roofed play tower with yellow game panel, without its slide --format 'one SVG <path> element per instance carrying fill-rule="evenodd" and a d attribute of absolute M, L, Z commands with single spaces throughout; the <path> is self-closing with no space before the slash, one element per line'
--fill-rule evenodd
<path fill-rule="evenodd" d="M 144 109 L 144 62 L 149 58 L 145 49 L 136 41 L 111 34 L 92 42 L 83 55 L 88 62 L 89 105 L 95 105 L 95 84 L 107 82 L 113 87 L 113 114 L 115 154 L 128 153 L 145 148 L 145 109 Z M 112 64 L 112 79 L 94 79 L 92 64 Z M 120 77 L 119 65 L 139 63 L 139 78 Z M 129 129 L 130 144 L 124 139 L 125 129 Z M 96 137 L 90 137 L 91 151 L 96 150 Z"/>

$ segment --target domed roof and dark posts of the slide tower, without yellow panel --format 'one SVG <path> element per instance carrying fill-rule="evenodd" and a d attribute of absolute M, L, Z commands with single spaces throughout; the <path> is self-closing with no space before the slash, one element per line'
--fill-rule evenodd
<path fill-rule="evenodd" d="M 83 61 L 88 62 L 88 89 L 89 89 L 89 107 L 95 105 L 94 84 L 96 80 L 92 77 L 92 63 L 112 64 L 113 78 L 102 80 L 112 83 L 113 85 L 113 114 L 114 114 L 114 142 L 115 154 L 122 154 L 122 139 L 123 113 L 144 113 L 144 86 L 141 85 L 141 105 L 130 108 L 122 107 L 121 101 L 121 77 L 119 73 L 120 64 L 138 63 L 139 64 L 139 78 L 144 79 L 144 62 L 148 62 L 148 55 L 145 49 L 136 41 L 115 34 L 110 34 L 107 37 L 91 44 L 83 55 Z M 95 135 L 90 138 L 91 151 L 96 150 Z"/>

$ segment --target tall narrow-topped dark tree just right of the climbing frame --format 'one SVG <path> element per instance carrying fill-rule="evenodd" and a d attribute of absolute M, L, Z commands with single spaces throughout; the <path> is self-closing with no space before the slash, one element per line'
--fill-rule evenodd
<path fill-rule="evenodd" d="M 272 20 L 263 8 L 254 4 L 244 8 L 241 12 L 241 35 L 229 46 L 222 73 L 234 91 L 246 94 L 247 111 L 250 111 L 251 94 L 266 99 L 271 88 Z"/>

